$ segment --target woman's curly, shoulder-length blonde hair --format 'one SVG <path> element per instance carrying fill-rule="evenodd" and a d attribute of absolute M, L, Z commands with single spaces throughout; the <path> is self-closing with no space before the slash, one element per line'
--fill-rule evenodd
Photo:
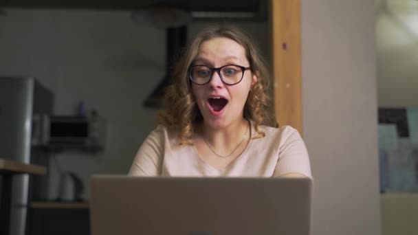
<path fill-rule="evenodd" d="M 244 106 L 244 118 L 252 120 L 256 137 L 264 137 L 265 133 L 259 125 L 277 126 L 274 112 L 271 109 L 271 99 L 268 94 L 270 74 L 259 51 L 249 36 L 232 26 L 212 26 L 202 30 L 188 45 L 173 68 L 174 84 L 165 92 L 165 110 L 159 113 L 158 123 L 167 128 L 177 128 L 180 144 L 192 144 L 192 136 L 196 125 L 203 120 L 192 94 L 188 80 L 188 68 L 192 65 L 204 41 L 212 38 L 230 38 L 245 49 L 245 56 L 250 63 L 251 71 L 258 78 L 250 90 Z"/>

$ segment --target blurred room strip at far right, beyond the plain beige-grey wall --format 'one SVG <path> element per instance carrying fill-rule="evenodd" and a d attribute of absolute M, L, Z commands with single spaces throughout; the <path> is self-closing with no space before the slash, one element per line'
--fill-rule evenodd
<path fill-rule="evenodd" d="M 418 1 L 376 0 L 383 234 L 418 227 Z"/>

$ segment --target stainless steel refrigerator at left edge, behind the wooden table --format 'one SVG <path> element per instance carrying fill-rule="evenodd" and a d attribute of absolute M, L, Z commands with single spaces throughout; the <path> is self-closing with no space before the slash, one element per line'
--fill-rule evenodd
<path fill-rule="evenodd" d="M 48 155 L 32 146 L 34 117 L 52 114 L 54 95 L 35 78 L 0 77 L 0 157 L 48 166 Z M 47 176 L 14 175 L 10 234 L 25 235 L 30 200 L 47 198 Z"/>

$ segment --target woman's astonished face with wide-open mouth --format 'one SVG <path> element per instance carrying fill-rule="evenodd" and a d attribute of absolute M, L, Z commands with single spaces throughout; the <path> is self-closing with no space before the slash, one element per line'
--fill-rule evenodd
<path fill-rule="evenodd" d="M 201 43 L 192 65 L 217 68 L 224 65 L 250 67 L 244 47 L 230 38 L 223 37 L 212 38 Z M 226 74 L 232 72 L 234 71 L 228 68 L 225 70 Z M 204 74 L 205 71 L 200 71 L 200 73 Z M 226 85 L 215 71 L 206 85 L 192 83 L 192 93 L 204 122 L 216 129 L 225 128 L 234 122 L 241 122 L 248 92 L 256 81 L 256 76 L 250 69 L 247 69 L 243 73 L 241 82 L 236 85 Z"/>

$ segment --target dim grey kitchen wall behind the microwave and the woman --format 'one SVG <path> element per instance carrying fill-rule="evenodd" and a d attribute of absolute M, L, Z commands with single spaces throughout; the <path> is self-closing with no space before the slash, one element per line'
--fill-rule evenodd
<path fill-rule="evenodd" d="M 165 74 L 165 30 L 137 25 L 129 12 L 16 10 L 0 16 L 0 76 L 35 76 L 55 94 L 54 113 L 72 115 L 78 101 L 107 120 L 107 146 L 96 155 L 54 155 L 50 199 L 58 195 L 58 169 L 85 182 L 94 173 L 126 174 L 155 126 L 156 110 L 142 102 Z M 190 24 L 194 35 L 205 23 Z M 267 25 L 239 23 L 267 53 Z M 189 36 L 189 37 L 190 37 Z"/>

